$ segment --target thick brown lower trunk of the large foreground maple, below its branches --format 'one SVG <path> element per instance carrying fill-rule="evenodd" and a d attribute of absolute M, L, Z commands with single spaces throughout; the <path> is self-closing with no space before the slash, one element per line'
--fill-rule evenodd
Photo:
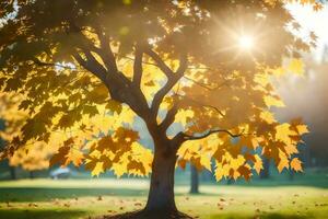
<path fill-rule="evenodd" d="M 176 159 L 175 151 L 165 152 L 155 149 L 148 203 L 144 208 L 145 211 L 156 214 L 177 212 L 174 200 Z"/>

